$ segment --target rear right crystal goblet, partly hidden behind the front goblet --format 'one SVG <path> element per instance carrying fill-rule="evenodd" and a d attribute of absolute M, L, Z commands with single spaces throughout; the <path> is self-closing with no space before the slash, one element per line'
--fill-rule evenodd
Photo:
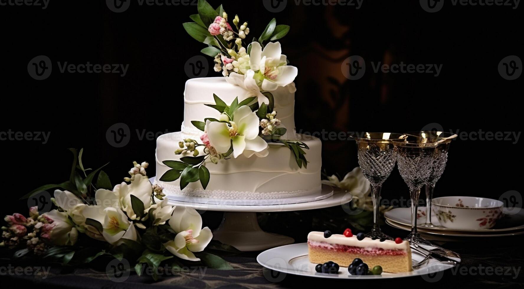
<path fill-rule="evenodd" d="M 447 151 L 450 148 L 451 141 L 457 137 L 456 134 L 443 131 L 417 131 L 406 132 L 406 134 L 428 139 L 429 142 L 440 141 L 435 149 L 435 158 L 433 160 L 433 168 L 431 176 L 427 183 L 425 183 L 426 195 L 426 227 L 434 227 L 431 221 L 431 200 L 433 199 L 433 191 L 436 182 L 442 176 L 447 162 Z M 442 140 L 444 139 L 444 140 Z"/>

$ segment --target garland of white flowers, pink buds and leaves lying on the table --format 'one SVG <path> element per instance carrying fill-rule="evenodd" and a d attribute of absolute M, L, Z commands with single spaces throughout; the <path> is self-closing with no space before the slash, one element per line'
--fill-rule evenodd
<path fill-rule="evenodd" d="M 157 269 L 165 265 L 172 270 L 187 262 L 232 269 L 220 257 L 203 251 L 206 247 L 208 251 L 237 250 L 212 241 L 211 230 L 202 228 L 202 218 L 195 209 L 170 206 L 162 188 L 149 182 L 147 162 L 133 162 L 130 177 L 111 188 L 102 168 L 90 173 L 91 169 L 84 169 L 83 150 L 78 154 L 70 150 L 74 155 L 70 180 L 41 186 L 24 196 L 60 188 L 51 198 L 56 208 L 40 213 L 35 206 L 29 209 L 29 217 L 18 213 L 6 216 L 1 247 L 16 249 L 16 258 L 41 258 L 64 265 L 125 258 L 137 274 L 151 267 L 155 280 Z"/>

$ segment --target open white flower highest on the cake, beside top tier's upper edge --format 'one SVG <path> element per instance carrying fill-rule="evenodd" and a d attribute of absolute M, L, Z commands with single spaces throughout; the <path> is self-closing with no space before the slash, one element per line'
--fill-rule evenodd
<path fill-rule="evenodd" d="M 279 86 L 291 84 L 298 74 L 296 67 L 287 65 L 280 42 L 269 42 L 264 50 L 260 43 L 251 43 L 249 66 L 256 72 L 254 79 L 263 91 L 274 91 Z"/>

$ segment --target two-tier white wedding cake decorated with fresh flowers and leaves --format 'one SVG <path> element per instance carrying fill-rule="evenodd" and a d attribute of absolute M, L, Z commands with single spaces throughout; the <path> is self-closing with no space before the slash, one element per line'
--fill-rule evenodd
<path fill-rule="evenodd" d="M 288 65 L 279 42 L 263 43 L 286 35 L 289 26 L 272 20 L 258 40 L 246 43 L 247 23 L 235 16 L 235 39 L 227 14 L 219 15 L 205 39 L 194 32 L 204 33 L 199 21 L 184 24 L 193 38 L 210 45 L 202 52 L 214 57 L 215 71 L 224 77 L 185 83 L 181 131 L 157 139 L 156 184 L 168 196 L 215 199 L 319 192 L 321 141 L 295 130 L 297 68 Z"/>

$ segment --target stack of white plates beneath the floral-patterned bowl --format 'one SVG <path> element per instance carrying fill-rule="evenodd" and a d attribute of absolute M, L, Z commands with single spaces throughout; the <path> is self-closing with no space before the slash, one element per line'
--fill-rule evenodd
<path fill-rule="evenodd" d="M 474 237 L 503 237 L 524 234 L 524 210 L 509 213 L 503 208 L 505 215 L 497 221 L 492 229 L 449 229 L 440 225 L 438 218 L 432 213 L 433 226 L 426 222 L 426 207 L 419 207 L 417 214 L 417 230 L 422 237 L 430 240 L 457 241 Z M 386 223 L 402 230 L 411 230 L 411 208 L 395 208 L 384 213 Z"/>

